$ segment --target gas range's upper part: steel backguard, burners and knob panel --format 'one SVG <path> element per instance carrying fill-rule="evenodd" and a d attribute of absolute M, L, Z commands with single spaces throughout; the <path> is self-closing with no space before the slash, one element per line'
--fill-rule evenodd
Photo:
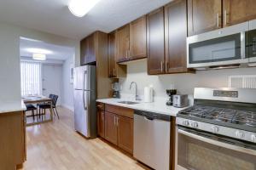
<path fill-rule="evenodd" d="M 195 88 L 195 104 L 177 114 L 177 125 L 256 143 L 256 90 Z"/>

